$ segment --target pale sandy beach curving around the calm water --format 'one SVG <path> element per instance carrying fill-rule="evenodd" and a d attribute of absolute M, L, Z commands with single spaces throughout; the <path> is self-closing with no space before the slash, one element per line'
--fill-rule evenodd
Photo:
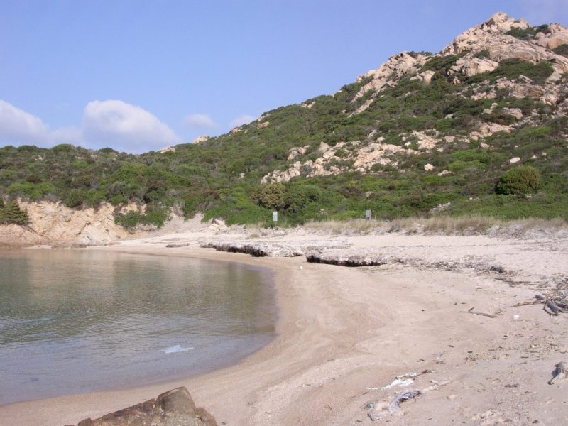
<path fill-rule="evenodd" d="M 354 252 L 397 253 L 409 261 L 347 268 L 307 263 L 305 256 L 255 258 L 200 248 L 210 239 L 340 241 Z M 166 248 L 168 244 L 178 247 Z M 568 380 L 547 384 L 555 364 L 568 361 L 568 314 L 548 315 L 542 303 L 520 305 L 535 301 L 535 294 L 564 294 L 568 288 L 565 236 L 307 230 L 256 235 L 202 226 L 87 250 L 270 268 L 278 335 L 238 364 L 202 376 L 6 405 L 0 407 L 1 425 L 77 424 L 177 386 L 186 386 L 219 425 L 568 422 Z M 388 387 L 397 376 L 403 376 L 405 385 Z M 400 403 L 392 413 L 381 409 L 406 390 L 422 395 Z M 371 421 L 369 413 L 380 420 Z"/>

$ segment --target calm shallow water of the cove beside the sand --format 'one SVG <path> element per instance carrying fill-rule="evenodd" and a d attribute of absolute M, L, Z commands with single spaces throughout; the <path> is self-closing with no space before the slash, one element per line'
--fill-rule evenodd
<path fill-rule="evenodd" d="M 165 381 L 274 334 L 267 271 L 95 251 L 0 251 L 0 405 Z"/>

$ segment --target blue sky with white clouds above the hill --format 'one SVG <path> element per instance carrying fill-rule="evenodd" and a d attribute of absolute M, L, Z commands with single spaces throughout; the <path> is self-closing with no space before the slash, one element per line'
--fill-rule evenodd
<path fill-rule="evenodd" d="M 568 25 L 568 0 L 2 0 L 0 146 L 143 152 L 330 94 L 496 11 Z"/>

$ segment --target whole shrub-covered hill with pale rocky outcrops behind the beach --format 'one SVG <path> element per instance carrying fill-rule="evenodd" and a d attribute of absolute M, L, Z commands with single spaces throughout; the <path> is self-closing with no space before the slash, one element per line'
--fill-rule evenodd
<path fill-rule="evenodd" d="M 440 53 L 400 53 L 333 95 L 141 155 L 0 148 L 6 200 L 146 204 L 229 223 L 487 214 L 568 218 L 568 29 L 497 13 Z M 118 212 L 118 209 L 117 209 Z"/>

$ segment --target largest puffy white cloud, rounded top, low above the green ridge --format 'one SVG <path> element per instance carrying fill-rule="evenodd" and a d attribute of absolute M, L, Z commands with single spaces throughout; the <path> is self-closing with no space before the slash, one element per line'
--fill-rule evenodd
<path fill-rule="evenodd" d="M 89 102 L 84 108 L 82 135 L 89 146 L 136 153 L 181 143 L 156 116 L 119 100 Z"/>

